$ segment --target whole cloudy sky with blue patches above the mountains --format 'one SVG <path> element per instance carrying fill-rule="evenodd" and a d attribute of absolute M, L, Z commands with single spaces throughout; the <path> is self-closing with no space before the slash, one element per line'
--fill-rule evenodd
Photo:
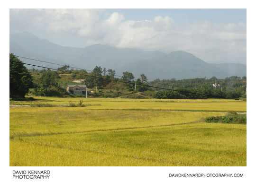
<path fill-rule="evenodd" d="M 10 9 L 10 33 L 69 47 L 185 51 L 209 63 L 247 61 L 246 9 Z"/>

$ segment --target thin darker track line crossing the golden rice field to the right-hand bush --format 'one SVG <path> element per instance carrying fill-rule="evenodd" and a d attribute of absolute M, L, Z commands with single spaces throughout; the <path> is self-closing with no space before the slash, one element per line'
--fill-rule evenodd
<path fill-rule="evenodd" d="M 127 127 L 127 128 L 117 128 L 117 129 L 99 129 L 99 130 L 59 132 L 59 133 L 38 133 L 38 132 L 37 133 L 22 133 L 22 134 L 15 135 L 12 139 L 14 139 L 15 137 L 51 136 L 51 135 L 76 134 L 76 133 L 91 133 L 91 132 L 97 132 L 97 131 L 136 130 L 136 129 L 143 129 L 143 128 L 157 128 L 157 127 L 168 127 L 168 126 L 174 126 L 174 125 L 186 125 L 186 124 L 193 124 L 193 123 L 199 123 L 199 122 L 202 122 L 202 121 L 197 120 L 197 121 L 186 122 L 186 123 L 165 124 L 165 125 L 157 125 L 157 126 Z"/>

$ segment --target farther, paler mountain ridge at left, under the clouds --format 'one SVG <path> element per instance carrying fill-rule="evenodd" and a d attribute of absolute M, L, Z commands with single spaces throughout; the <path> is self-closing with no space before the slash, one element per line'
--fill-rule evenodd
<path fill-rule="evenodd" d="M 117 69 L 127 63 L 165 54 L 159 51 L 119 49 L 100 44 L 85 48 L 63 47 L 29 33 L 10 34 L 10 52 L 16 53 L 17 50 L 12 45 L 13 43 L 16 43 L 28 53 L 33 52 L 34 55 L 63 61 L 70 65 L 74 64 L 83 69 L 93 69 L 97 65 L 108 69 Z"/>

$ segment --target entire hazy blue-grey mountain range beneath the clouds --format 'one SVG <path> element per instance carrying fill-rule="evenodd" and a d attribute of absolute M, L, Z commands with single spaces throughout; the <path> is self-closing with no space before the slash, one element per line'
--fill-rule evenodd
<path fill-rule="evenodd" d="M 41 61 L 90 69 L 95 66 L 115 69 L 117 75 L 132 72 L 135 78 L 144 73 L 148 80 L 183 78 L 226 78 L 246 76 L 246 65 L 237 63 L 210 64 L 191 53 L 177 51 L 164 53 L 132 48 L 115 48 L 94 44 L 85 48 L 63 47 L 29 33 L 10 34 L 10 53 Z M 33 60 L 25 63 L 58 68 L 60 66 Z M 28 68 L 32 68 L 31 66 Z M 40 69 L 35 67 L 35 69 Z"/>

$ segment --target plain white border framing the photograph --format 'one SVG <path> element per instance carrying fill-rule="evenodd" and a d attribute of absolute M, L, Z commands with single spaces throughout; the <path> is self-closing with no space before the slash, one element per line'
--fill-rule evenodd
<path fill-rule="evenodd" d="M 10 8 L 247 8 L 247 167 L 9 167 L 9 98 L 6 91 L 1 92 L 2 127 L 1 127 L 1 180 L 12 180 L 12 170 L 50 170 L 49 180 L 40 181 L 251 181 L 255 179 L 255 119 L 253 85 L 255 59 L 255 8 L 249 0 L 180 0 L 169 2 L 165 0 L 108 0 L 108 1 L 35 1 L 10 0 L 1 5 L 1 83 L 7 83 L 9 75 L 9 9 Z M 3 71 L 4 70 L 4 71 Z M 8 86 L 7 86 L 8 87 Z M 170 178 L 169 173 L 244 173 L 243 178 Z M 23 180 L 26 181 L 26 180 Z M 37 180 L 30 180 L 37 181 Z"/>

